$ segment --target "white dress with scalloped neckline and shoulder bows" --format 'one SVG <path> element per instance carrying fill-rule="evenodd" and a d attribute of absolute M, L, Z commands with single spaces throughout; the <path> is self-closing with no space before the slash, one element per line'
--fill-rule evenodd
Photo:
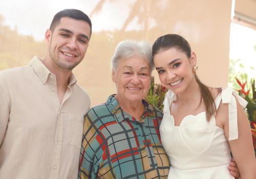
<path fill-rule="evenodd" d="M 233 93 L 243 107 L 247 102 Z M 227 88 L 216 98 L 216 107 L 220 102 L 228 103 L 229 140 L 238 139 L 237 104 L 232 89 Z M 224 130 L 216 126 L 215 117 L 209 122 L 206 113 L 188 115 L 180 126 L 174 126 L 174 117 L 170 115 L 170 105 L 176 100 L 176 94 L 168 91 L 165 95 L 163 120 L 160 135 L 163 147 L 170 161 L 168 178 L 170 179 L 225 179 L 234 178 L 227 166 L 230 162 L 230 148 Z"/>

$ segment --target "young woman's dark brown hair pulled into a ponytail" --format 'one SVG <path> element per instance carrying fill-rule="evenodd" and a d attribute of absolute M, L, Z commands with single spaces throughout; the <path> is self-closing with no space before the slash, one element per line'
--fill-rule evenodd
<path fill-rule="evenodd" d="M 170 48 L 176 48 L 176 49 L 184 52 L 188 58 L 191 57 L 191 48 L 185 38 L 183 38 L 182 36 L 177 35 L 177 34 L 166 34 L 166 35 L 159 37 L 154 42 L 153 47 L 152 47 L 153 58 L 160 51 L 168 50 Z M 217 111 L 214 97 L 212 96 L 211 92 L 209 91 L 209 88 L 199 80 L 199 78 L 197 77 L 196 74 L 195 74 L 195 79 L 200 88 L 200 93 L 201 93 L 200 104 L 202 101 L 204 102 L 204 105 L 206 108 L 206 119 L 207 119 L 207 121 L 209 121 L 211 119 L 211 116 L 214 116 Z"/>

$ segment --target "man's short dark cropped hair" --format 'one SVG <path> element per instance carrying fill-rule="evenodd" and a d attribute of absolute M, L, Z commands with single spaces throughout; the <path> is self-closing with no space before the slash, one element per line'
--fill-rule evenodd
<path fill-rule="evenodd" d="M 91 19 L 88 17 L 88 15 L 86 15 L 85 13 L 77 9 L 64 9 L 62 11 L 59 11 L 57 14 L 55 14 L 52 19 L 50 30 L 54 31 L 55 27 L 59 24 L 61 17 L 70 17 L 76 20 L 86 21 L 91 28 L 90 35 L 92 34 Z"/>

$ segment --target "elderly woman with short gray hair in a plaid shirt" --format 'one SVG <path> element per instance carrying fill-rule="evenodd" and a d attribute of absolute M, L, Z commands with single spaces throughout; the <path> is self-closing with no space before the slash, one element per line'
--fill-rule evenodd
<path fill-rule="evenodd" d="M 167 178 L 162 113 L 144 100 L 153 70 L 150 45 L 122 41 L 112 67 L 117 94 L 85 116 L 78 178 Z"/>

